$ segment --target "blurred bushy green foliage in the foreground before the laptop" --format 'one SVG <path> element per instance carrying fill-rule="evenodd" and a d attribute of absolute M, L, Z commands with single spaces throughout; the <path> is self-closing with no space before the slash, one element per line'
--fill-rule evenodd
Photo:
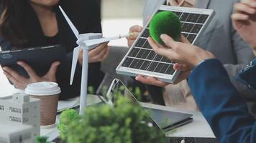
<path fill-rule="evenodd" d="M 145 109 L 127 97 L 117 97 L 113 105 L 87 107 L 83 115 L 72 109 L 63 112 L 60 138 L 67 143 L 166 142 Z"/>

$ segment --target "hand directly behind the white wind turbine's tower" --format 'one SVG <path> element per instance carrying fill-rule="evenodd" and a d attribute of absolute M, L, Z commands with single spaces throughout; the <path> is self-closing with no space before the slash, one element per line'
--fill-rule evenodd
<path fill-rule="evenodd" d="M 95 49 L 89 51 L 89 63 L 104 61 L 109 56 L 109 49 L 108 43 L 99 44 Z M 79 53 L 78 62 L 80 65 L 83 64 L 83 50 Z"/>

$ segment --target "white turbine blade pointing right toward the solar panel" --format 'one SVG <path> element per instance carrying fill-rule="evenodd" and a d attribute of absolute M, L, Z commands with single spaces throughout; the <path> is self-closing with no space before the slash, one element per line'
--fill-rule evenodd
<path fill-rule="evenodd" d="M 125 38 L 128 36 L 130 36 L 130 34 L 111 36 L 111 37 L 106 37 L 106 38 L 101 38 L 101 39 L 87 40 L 87 41 L 83 41 L 83 42 L 84 42 L 84 44 L 86 44 L 86 46 L 93 46 L 93 45 L 101 44 L 101 43 L 111 41 L 111 40 L 122 39 L 122 38 Z"/>

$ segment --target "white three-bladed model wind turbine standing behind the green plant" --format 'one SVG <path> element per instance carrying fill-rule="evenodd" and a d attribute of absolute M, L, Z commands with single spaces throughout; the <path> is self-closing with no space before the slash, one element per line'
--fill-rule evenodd
<path fill-rule="evenodd" d="M 81 79 L 81 99 L 80 99 L 80 114 L 83 114 L 83 109 L 86 107 L 86 99 L 87 99 L 87 82 L 88 82 L 88 52 L 91 49 L 94 49 L 101 43 L 121 39 L 125 37 L 129 37 L 132 34 L 124 34 L 118 36 L 111 36 L 107 38 L 102 38 L 102 34 L 79 34 L 76 26 L 70 21 L 65 11 L 59 6 L 60 11 L 62 12 L 65 20 L 68 22 L 68 25 L 72 29 L 73 33 L 76 35 L 78 41 L 76 43 L 78 46 L 73 51 L 73 61 L 70 75 L 70 85 L 73 83 L 73 78 L 76 71 L 76 64 L 78 62 L 79 51 L 83 49 L 83 65 L 82 65 L 82 79 Z"/>

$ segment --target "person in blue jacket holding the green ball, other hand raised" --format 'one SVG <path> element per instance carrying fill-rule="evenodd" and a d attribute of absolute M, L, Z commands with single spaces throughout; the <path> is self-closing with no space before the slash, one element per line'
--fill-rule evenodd
<path fill-rule="evenodd" d="M 234 5 L 232 23 L 234 29 L 250 44 L 256 54 L 256 1 L 241 1 Z M 174 41 L 163 34 L 166 46 L 156 44 L 149 38 L 157 54 L 178 61 L 179 70 L 191 72 L 188 84 L 198 107 L 209 122 L 219 142 L 256 142 L 256 120 L 248 111 L 247 104 L 232 84 L 226 69 L 214 54 L 191 45 L 183 37 Z M 186 66 L 184 66 L 186 65 Z M 189 68 L 183 68 L 189 67 Z M 190 71 L 192 69 L 192 71 Z M 211 74 L 209 74 L 211 73 Z M 256 95 L 256 59 L 237 76 Z"/>

